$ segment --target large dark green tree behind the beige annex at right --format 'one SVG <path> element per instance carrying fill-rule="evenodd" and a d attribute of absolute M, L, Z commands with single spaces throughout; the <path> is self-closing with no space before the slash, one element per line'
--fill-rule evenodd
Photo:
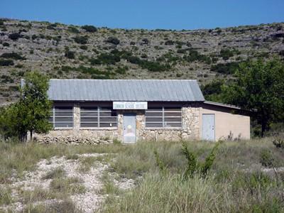
<path fill-rule="evenodd" d="M 284 65 L 278 58 L 241 63 L 236 80 L 222 87 L 224 101 L 235 104 L 261 124 L 261 136 L 272 121 L 283 119 Z"/>

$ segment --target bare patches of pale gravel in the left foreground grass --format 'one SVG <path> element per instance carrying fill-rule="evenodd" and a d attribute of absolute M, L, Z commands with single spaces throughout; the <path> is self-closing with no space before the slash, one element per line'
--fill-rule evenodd
<path fill-rule="evenodd" d="M 109 168 L 109 165 L 102 162 L 95 162 L 94 166 L 90 168 L 87 173 L 82 173 L 78 171 L 78 167 L 80 166 L 80 158 L 84 157 L 97 157 L 99 155 L 105 154 L 82 154 L 78 155 L 79 158 L 77 160 L 67 160 L 63 157 L 53 157 L 50 160 L 40 160 L 38 162 L 38 169 L 33 172 L 27 172 L 24 174 L 25 178 L 23 180 L 19 180 L 16 178 L 11 178 L 13 182 L 10 187 L 13 189 L 13 197 L 18 197 L 18 191 L 16 189 L 21 190 L 33 190 L 35 187 L 42 187 L 43 190 L 48 190 L 51 179 L 43 180 L 43 176 L 46 175 L 51 170 L 55 168 L 62 168 L 66 172 L 66 178 L 80 178 L 82 180 L 84 187 L 86 188 L 86 192 L 84 194 L 71 195 L 70 199 L 76 204 L 78 209 L 81 209 L 82 212 L 97 212 L 99 205 L 104 202 L 104 198 L 107 195 L 99 194 L 99 190 L 102 189 L 102 175 Z M 114 174 L 109 175 L 109 177 L 114 178 Z M 133 187 L 134 181 L 123 179 L 123 180 L 113 180 L 114 185 L 118 186 L 120 189 L 129 189 Z M 58 200 L 46 200 L 44 203 L 51 204 Z M 40 204 L 43 202 L 37 202 Z M 8 211 L 8 209 L 13 209 L 13 212 L 22 212 L 25 204 L 21 202 L 16 202 L 11 204 L 10 206 L 0 206 L 1 211 Z"/>

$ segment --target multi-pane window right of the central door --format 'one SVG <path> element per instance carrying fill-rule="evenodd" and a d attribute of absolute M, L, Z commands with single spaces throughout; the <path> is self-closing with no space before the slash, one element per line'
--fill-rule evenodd
<path fill-rule="evenodd" d="M 146 127 L 182 127 L 181 107 L 149 107 Z"/>

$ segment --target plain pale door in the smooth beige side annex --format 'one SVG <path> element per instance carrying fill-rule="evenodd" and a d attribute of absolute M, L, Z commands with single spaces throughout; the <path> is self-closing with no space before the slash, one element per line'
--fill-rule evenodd
<path fill-rule="evenodd" d="M 202 114 L 202 139 L 215 141 L 215 115 Z"/>

